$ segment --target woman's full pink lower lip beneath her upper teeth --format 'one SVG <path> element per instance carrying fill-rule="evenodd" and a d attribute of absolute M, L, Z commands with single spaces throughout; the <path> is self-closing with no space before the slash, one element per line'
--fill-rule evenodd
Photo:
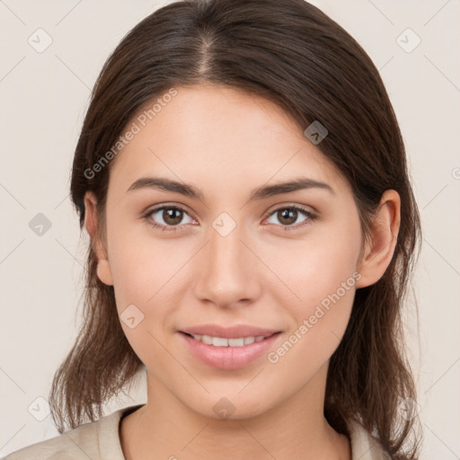
<path fill-rule="evenodd" d="M 266 353 L 273 342 L 279 338 L 280 332 L 276 332 L 263 341 L 254 341 L 243 347 L 215 347 L 202 341 L 192 339 L 184 332 L 181 337 L 187 342 L 191 353 L 201 359 L 205 364 L 218 369 L 232 370 L 247 366 L 249 363 Z"/>

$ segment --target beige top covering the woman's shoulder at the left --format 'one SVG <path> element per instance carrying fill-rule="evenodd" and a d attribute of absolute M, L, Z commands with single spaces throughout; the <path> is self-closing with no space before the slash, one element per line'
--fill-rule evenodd
<path fill-rule="evenodd" d="M 3 460 L 125 460 L 119 442 L 119 420 L 129 409 L 112 412 L 55 438 L 22 447 Z"/>

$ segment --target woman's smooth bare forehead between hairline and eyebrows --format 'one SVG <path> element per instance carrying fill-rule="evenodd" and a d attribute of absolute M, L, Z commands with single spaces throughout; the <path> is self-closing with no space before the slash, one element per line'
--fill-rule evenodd
<path fill-rule="evenodd" d="M 223 191 L 302 174 L 347 185 L 296 120 L 273 102 L 222 85 L 175 90 L 171 98 L 159 95 L 146 103 L 128 122 L 137 133 L 111 164 L 111 181 L 128 187 L 152 174 Z"/>

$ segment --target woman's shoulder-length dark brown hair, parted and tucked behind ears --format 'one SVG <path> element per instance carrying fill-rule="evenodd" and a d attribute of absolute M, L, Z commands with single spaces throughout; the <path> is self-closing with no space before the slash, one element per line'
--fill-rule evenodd
<path fill-rule="evenodd" d="M 71 197 L 84 226 L 84 194 L 98 200 L 102 239 L 110 168 L 101 162 L 146 102 L 172 87 L 225 84 L 257 94 L 306 128 L 320 120 L 329 135 L 318 146 L 351 185 L 363 234 L 385 190 L 401 197 L 394 257 L 374 285 L 356 292 L 348 328 L 332 355 L 324 414 L 348 434 L 358 420 L 391 458 L 414 459 L 417 417 L 400 415 L 415 401 L 405 358 L 401 308 L 420 243 L 403 138 L 385 86 L 367 53 L 340 25 L 304 0 L 196 0 L 168 4 L 128 33 L 102 68 L 84 119 Z M 101 163 L 100 163 L 101 164 Z M 59 432 L 102 416 L 102 404 L 144 366 L 120 326 L 113 287 L 87 252 L 84 323 L 57 369 L 50 407 Z M 411 401 L 408 400 L 408 401 Z M 406 446 L 408 445 L 408 446 Z"/>

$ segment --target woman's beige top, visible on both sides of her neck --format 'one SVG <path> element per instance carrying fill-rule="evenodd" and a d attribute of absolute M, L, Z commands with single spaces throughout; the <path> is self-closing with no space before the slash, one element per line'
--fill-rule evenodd
<path fill-rule="evenodd" d="M 126 460 L 119 442 L 119 421 L 142 405 L 120 409 L 55 438 L 22 447 L 4 460 Z M 361 425 L 350 422 L 349 433 L 352 460 L 388 460 L 376 438 Z"/>

